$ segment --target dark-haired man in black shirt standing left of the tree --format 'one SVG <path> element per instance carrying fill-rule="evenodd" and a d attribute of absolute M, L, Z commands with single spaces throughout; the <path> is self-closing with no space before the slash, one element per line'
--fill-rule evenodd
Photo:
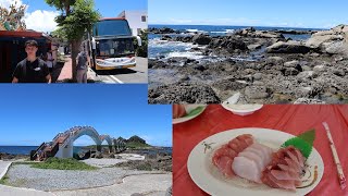
<path fill-rule="evenodd" d="M 25 42 L 27 58 L 14 70 L 12 83 L 51 83 L 51 75 L 46 62 L 36 57 L 38 44 L 35 40 Z"/>

